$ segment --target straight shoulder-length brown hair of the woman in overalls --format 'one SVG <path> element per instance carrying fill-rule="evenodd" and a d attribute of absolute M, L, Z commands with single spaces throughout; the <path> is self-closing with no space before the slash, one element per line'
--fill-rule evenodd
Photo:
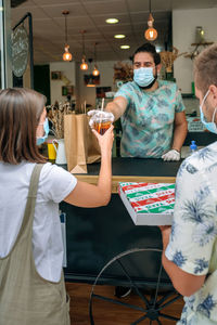
<path fill-rule="evenodd" d="M 44 162 L 36 144 L 36 129 L 46 98 L 30 89 L 0 91 L 0 160 L 13 165 L 22 160 Z"/>

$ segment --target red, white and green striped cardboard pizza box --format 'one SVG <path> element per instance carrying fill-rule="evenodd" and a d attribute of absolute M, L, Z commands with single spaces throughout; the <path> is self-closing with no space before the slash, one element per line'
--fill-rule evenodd
<path fill-rule="evenodd" d="M 175 183 L 119 182 L 119 196 L 136 225 L 170 225 Z"/>

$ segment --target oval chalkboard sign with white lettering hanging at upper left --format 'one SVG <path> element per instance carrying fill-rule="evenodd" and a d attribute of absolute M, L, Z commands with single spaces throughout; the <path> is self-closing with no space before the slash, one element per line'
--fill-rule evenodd
<path fill-rule="evenodd" d="M 17 27 L 12 34 L 12 70 L 22 77 L 28 63 L 28 34 L 24 26 Z"/>

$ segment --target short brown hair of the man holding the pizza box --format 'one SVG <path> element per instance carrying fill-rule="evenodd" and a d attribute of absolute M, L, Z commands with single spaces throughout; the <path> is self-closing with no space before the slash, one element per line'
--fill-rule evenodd
<path fill-rule="evenodd" d="M 194 80 L 203 95 L 210 84 L 217 86 L 217 43 L 202 51 L 195 58 Z"/>

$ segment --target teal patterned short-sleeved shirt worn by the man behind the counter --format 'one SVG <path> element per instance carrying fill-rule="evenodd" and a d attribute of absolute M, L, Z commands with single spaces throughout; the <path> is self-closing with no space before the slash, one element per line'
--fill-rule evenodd
<path fill-rule="evenodd" d="M 123 157 L 161 158 L 170 148 L 175 113 L 184 110 L 174 82 L 158 80 L 155 91 L 143 91 L 135 81 L 116 92 L 128 105 L 122 116 Z"/>

